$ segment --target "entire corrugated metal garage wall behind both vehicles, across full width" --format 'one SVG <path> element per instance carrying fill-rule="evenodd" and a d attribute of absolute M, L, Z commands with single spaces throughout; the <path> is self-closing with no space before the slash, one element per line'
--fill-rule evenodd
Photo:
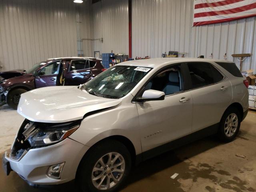
<path fill-rule="evenodd" d="M 194 0 L 132 0 L 132 57 L 161 57 L 168 51 L 186 57 L 239 61 L 231 54 L 251 53 L 243 70 L 256 73 L 255 17 L 192 27 Z M 94 51 L 129 52 L 128 0 L 1 0 L 0 66 L 24 68 L 46 58 L 77 56 L 78 13 L 84 56 Z M 103 38 L 103 41 L 102 41 Z M 1 70 L 1 69 L 0 69 Z"/>

